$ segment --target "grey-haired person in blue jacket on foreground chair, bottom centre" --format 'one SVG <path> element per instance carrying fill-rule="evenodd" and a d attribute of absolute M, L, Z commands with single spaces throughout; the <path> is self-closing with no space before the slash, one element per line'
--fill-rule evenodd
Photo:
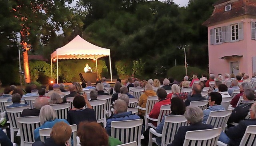
<path fill-rule="evenodd" d="M 150 85 L 150 84 L 149 84 Z M 150 85 L 151 86 L 151 85 Z M 111 122 L 112 121 L 126 121 L 140 119 L 139 116 L 127 112 L 127 104 L 124 100 L 116 100 L 114 104 L 114 114 L 107 119 L 106 131 L 111 136 Z"/>

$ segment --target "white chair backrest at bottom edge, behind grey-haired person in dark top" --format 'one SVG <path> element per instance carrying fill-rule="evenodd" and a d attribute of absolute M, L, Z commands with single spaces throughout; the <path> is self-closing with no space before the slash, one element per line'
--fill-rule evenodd
<path fill-rule="evenodd" d="M 221 128 L 186 132 L 183 146 L 216 146 Z"/>

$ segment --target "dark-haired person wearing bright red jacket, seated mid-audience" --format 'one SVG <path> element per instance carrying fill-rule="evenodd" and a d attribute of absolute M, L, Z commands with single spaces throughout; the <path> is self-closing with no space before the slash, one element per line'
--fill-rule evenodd
<path fill-rule="evenodd" d="M 148 115 L 150 118 L 154 118 L 154 119 L 158 118 L 158 116 L 160 114 L 160 108 L 161 108 L 162 105 L 167 105 L 167 104 L 171 103 L 170 99 L 166 98 L 167 93 L 166 93 L 166 90 L 164 90 L 163 88 L 158 88 L 156 90 L 156 95 L 158 96 L 159 102 L 157 102 L 154 105 L 154 107 L 152 108 L 150 114 Z M 155 122 L 155 121 L 152 121 L 152 124 L 154 126 L 157 126 L 157 122 Z"/>

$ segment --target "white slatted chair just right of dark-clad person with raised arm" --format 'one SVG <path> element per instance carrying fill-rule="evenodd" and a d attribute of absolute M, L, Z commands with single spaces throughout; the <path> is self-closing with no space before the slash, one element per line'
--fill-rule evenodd
<path fill-rule="evenodd" d="M 94 100 L 89 101 L 89 103 L 96 113 L 97 122 L 103 122 L 104 127 L 106 127 L 106 100 Z"/>

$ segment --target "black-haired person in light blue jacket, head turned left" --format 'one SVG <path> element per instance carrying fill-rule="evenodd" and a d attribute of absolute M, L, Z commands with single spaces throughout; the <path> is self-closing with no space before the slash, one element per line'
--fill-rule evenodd
<path fill-rule="evenodd" d="M 210 92 L 209 94 L 209 108 L 207 110 L 204 110 L 204 118 L 203 118 L 203 123 L 206 123 L 210 112 L 212 111 L 220 111 L 220 110 L 225 110 L 225 108 L 221 105 L 222 102 L 222 96 L 218 92 Z"/>

